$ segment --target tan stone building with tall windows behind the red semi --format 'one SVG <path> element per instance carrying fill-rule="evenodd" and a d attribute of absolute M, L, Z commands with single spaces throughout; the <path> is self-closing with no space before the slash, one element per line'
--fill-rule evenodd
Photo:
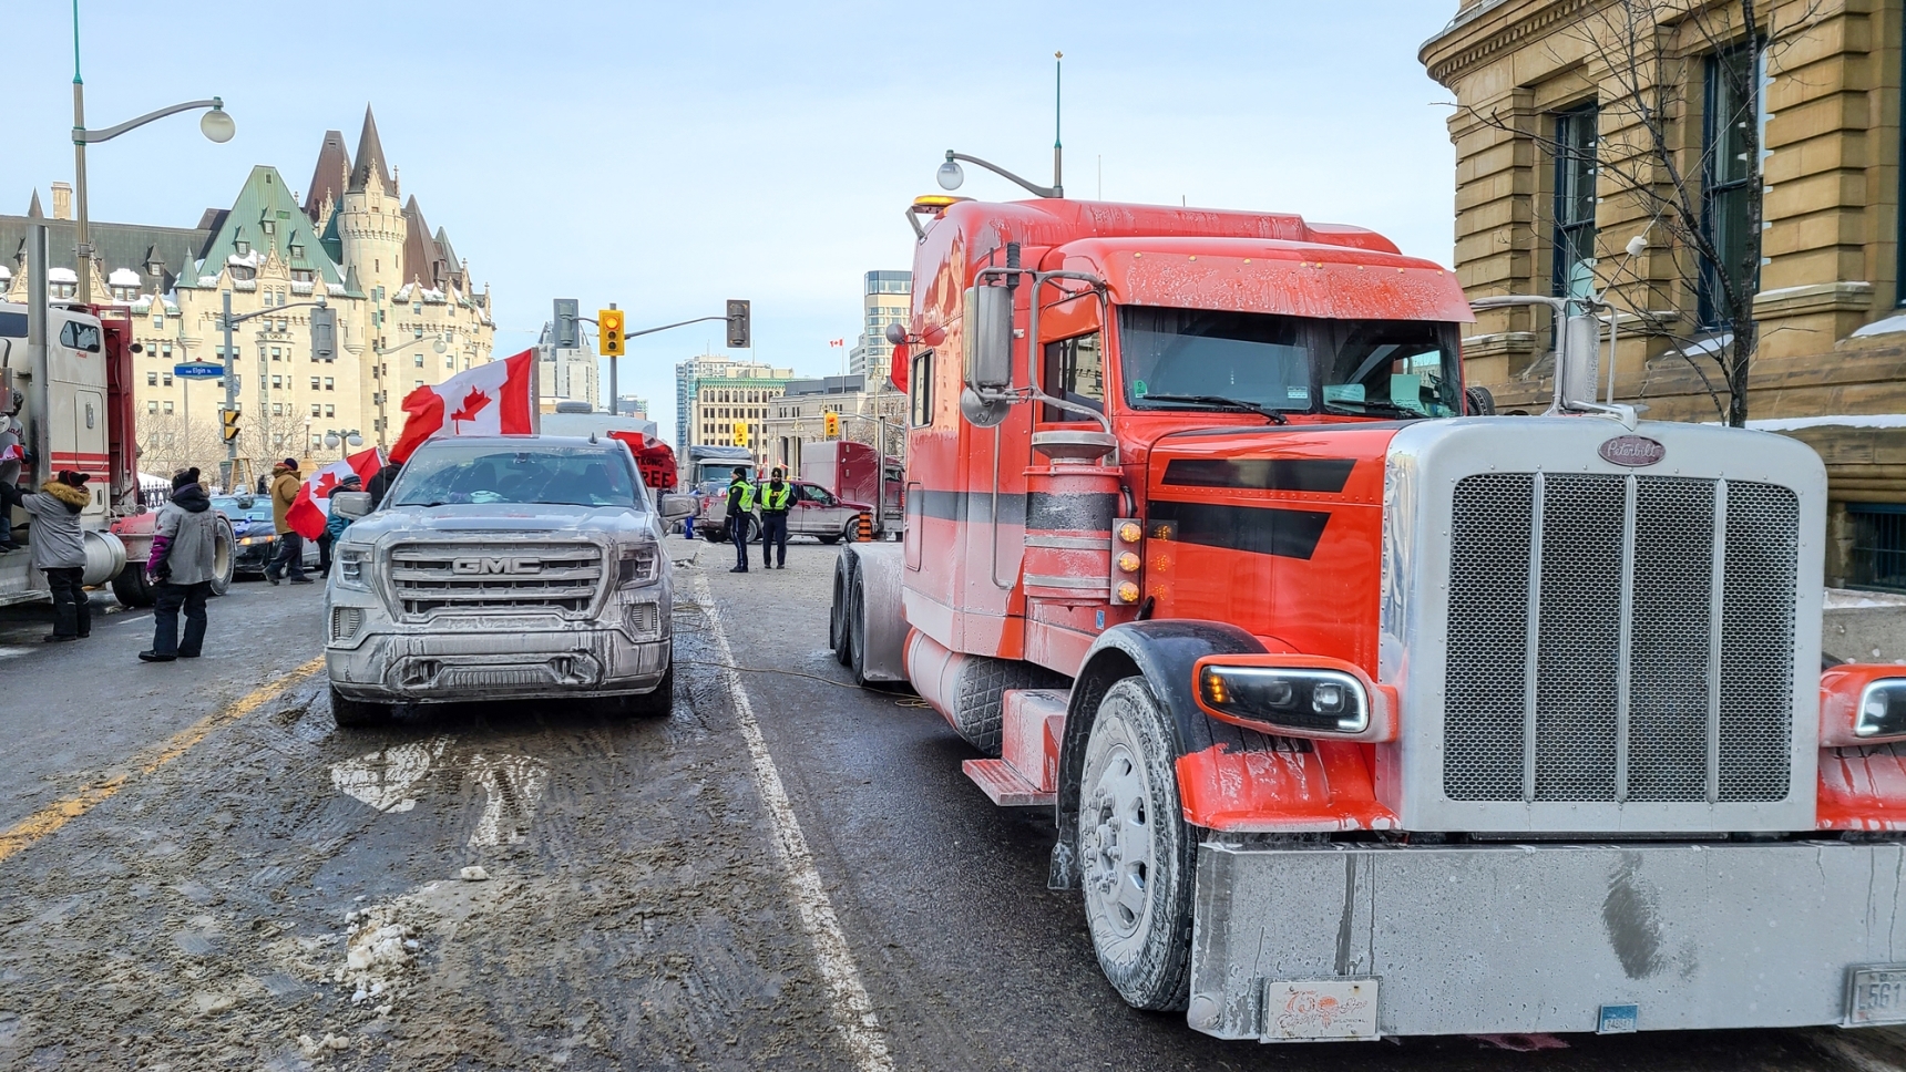
<path fill-rule="evenodd" d="M 1715 272 L 1733 270 L 1721 265 L 1750 259 L 1700 261 L 1624 175 L 1698 187 L 1696 227 L 1721 249 L 1738 249 L 1759 189 L 1759 272 L 1740 280 L 1759 331 L 1750 427 L 1797 436 L 1826 461 L 1828 583 L 1906 588 L 1902 0 L 1767 0 L 1761 76 L 1736 82 L 1719 72 L 1748 40 L 1738 8 L 1460 0 L 1420 55 L 1456 97 L 1454 267 L 1471 299 L 1605 295 L 1618 310 L 1616 398 L 1651 419 L 1719 421 L 1706 354 L 1731 345 L 1734 324 L 1712 291 Z M 1649 25 L 1611 40 L 1632 11 Z M 1653 128 L 1622 107 L 1637 84 L 1666 89 L 1651 97 L 1668 105 L 1654 158 L 1635 152 Z M 1734 99 L 1738 84 L 1750 99 Z M 1754 116 L 1757 160 L 1725 114 Z M 1500 409 L 1548 406 L 1546 320 L 1494 310 L 1468 331 L 1470 383 Z"/>

